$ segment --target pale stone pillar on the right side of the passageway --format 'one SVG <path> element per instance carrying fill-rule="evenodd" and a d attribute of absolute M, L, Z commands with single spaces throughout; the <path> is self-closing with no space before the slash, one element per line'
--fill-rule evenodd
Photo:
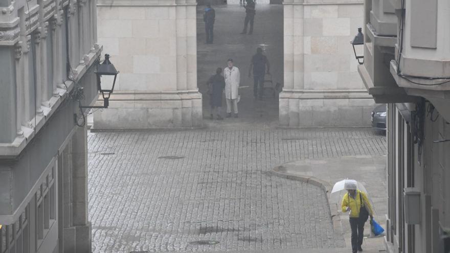
<path fill-rule="evenodd" d="M 284 0 L 281 126 L 369 126 L 374 102 L 357 74 L 349 41 L 363 26 L 363 4 Z"/>

